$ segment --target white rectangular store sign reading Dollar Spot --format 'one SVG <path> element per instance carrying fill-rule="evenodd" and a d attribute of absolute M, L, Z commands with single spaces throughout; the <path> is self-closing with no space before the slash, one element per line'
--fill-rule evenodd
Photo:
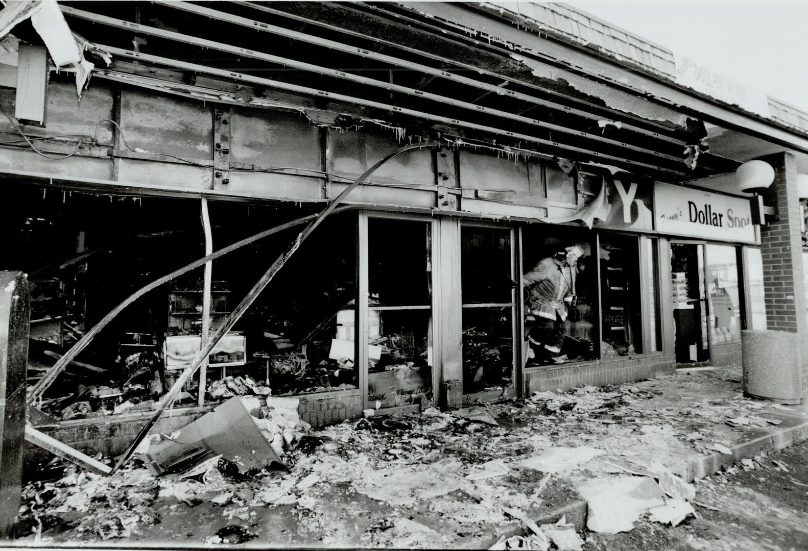
<path fill-rule="evenodd" d="M 755 243 L 749 199 L 657 182 L 654 210 L 658 232 Z"/>

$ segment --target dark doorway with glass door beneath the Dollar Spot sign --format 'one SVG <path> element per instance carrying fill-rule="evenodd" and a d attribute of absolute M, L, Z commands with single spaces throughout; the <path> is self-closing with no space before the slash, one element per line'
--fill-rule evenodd
<path fill-rule="evenodd" d="M 677 363 L 709 360 L 705 246 L 671 243 L 671 302 Z"/>

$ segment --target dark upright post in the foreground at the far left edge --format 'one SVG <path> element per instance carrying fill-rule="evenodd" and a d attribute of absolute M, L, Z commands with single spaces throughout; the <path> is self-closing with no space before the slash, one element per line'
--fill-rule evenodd
<path fill-rule="evenodd" d="M 29 303 L 25 274 L 0 272 L 0 541 L 13 535 L 22 492 Z"/>

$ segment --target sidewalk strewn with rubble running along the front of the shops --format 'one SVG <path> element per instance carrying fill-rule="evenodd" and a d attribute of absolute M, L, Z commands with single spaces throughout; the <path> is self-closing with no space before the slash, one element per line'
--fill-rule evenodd
<path fill-rule="evenodd" d="M 716 368 L 490 404 L 465 411 L 472 420 L 427 410 L 346 422 L 303 437 L 288 472 L 251 477 L 213 466 L 154 478 L 132 465 L 101 478 L 69 466 L 24 490 L 23 502 L 41 504 L 24 509 L 23 531 L 36 516 L 42 528 L 20 543 L 506 549 L 503 537 L 529 533 L 530 520 L 563 516 L 583 530 L 587 500 L 590 528 L 613 520 L 604 499 L 697 506 L 696 486 L 666 468 L 690 482 L 808 438 L 806 407 L 744 399 L 740 379 L 739 367 Z"/>

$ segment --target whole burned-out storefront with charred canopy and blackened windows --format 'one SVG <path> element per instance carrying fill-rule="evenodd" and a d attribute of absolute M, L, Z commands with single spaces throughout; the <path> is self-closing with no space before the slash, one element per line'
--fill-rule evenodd
<path fill-rule="evenodd" d="M 322 426 L 651 378 L 765 328 L 773 199 L 726 182 L 808 142 L 663 48 L 487 5 L 40 3 L 0 43 L 2 269 L 77 449 L 234 395 Z"/>

